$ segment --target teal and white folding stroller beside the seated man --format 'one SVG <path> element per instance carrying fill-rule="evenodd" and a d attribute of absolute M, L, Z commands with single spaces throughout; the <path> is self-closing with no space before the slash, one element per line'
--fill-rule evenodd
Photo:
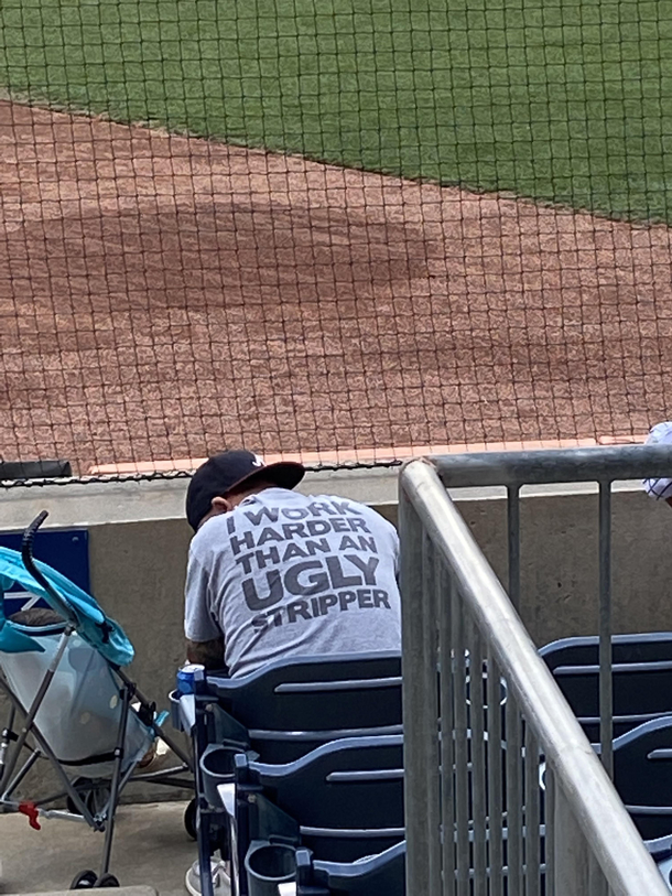
<path fill-rule="evenodd" d="M 0 692 L 10 703 L 0 740 L 0 812 L 21 812 L 37 830 L 40 818 L 63 818 L 104 832 L 99 873 L 80 872 L 71 889 L 115 887 L 109 867 L 121 791 L 132 781 L 193 789 L 192 760 L 161 727 L 165 714 L 156 714 L 124 672 L 133 647 L 121 627 L 90 595 L 33 559 L 46 516 L 25 530 L 21 553 L 0 548 Z M 57 620 L 25 625 L 26 612 L 20 620 L 7 618 L 4 592 L 14 584 L 32 595 L 24 611 L 42 598 Z M 158 740 L 177 764 L 151 771 L 150 763 L 143 771 Z M 55 769 L 58 792 L 19 798 L 40 759 Z"/>

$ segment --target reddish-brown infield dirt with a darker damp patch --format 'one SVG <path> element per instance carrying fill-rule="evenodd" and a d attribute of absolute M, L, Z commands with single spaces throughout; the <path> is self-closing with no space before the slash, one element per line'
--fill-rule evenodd
<path fill-rule="evenodd" d="M 0 102 L 0 456 L 629 435 L 668 228 Z"/>

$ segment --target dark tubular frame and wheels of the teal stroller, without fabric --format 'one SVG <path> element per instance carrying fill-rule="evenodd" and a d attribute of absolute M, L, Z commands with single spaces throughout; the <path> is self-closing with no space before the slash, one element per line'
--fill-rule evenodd
<path fill-rule="evenodd" d="M 61 633 L 61 639 L 56 654 L 29 708 L 24 708 L 21 704 L 9 683 L 0 674 L 0 691 L 3 692 L 10 701 L 9 719 L 0 734 L 0 813 L 20 812 L 25 814 L 30 825 L 36 830 L 40 830 L 39 818 L 59 818 L 68 821 L 84 822 L 95 831 L 104 832 L 105 842 L 99 874 L 96 875 L 95 872 L 89 870 L 80 872 L 74 878 L 71 889 L 88 889 L 101 886 L 113 887 L 119 886 L 119 882 L 109 873 L 109 867 L 115 833 L 115 814 L 122 790 L 128 784 L 140 781 L 192 790 L 194 788 L 194 765 L 191 757 L 156 722 L 155 704 L 138 689 L 123 669 L 111 662 L 109 663 L 109 668 L 118 682 L 121 715 L 117 731 L 116 747 L 113 754 L 110 756 L 112 760 L 112 774 L 110 778 L 71 779 L 63 768 L 63 763 L 58 760 L 53 749 L 35 726 L 35 716 L 48 692 L 58 665 L 68 646 L 69 638 L 76 631 L 69 607 L 61 598 L 55 589 L 52 587 L 48 580 L 42 574 L 33 561 L 32 546 L 35 532 L 46 519 L 46 511 L 42 511 L 25 530 L 21 555 L 26 570 L 33 579 L 35 579 L 37 584 L 48 593 L 66 622 L 65 625 L 53 627 L 54 633 Z M 136 713 L 142 724 L 152 731 L 154 734 L 153 743 L 155 743 L 156 740 L 163 741 L 163 743 L 173 751 L 181 763 L 178 766 L 158 771 L 140 771 L 136 774 L 138 768 L 138 763 L 136 762 L 123 769 L 124 743 L 130 712 Z M 20 730 L 17 731 L 15 728 L 19 728 L 17 724 L 18 715 L 23 715 L 24 717 L 22 723 L 20 723 Z M 30 743 L 31 738 L 34 745 Z M 21 762 L 24 751 L 26 751 L 29 755 Z M 35 801 L 15 799 L 14 792 L 17 788 L 41 758 L 51 760 L 51 765 L 55 769 L 63 785 L 63 789 Z M 184 777 L 185 774 L 192 777 Z M 51 803 L 63 800 L 64 798 L 67 799 L 67 809 L 48 808 Z M 187 823 L 186 820 L 185 823 Z"/>

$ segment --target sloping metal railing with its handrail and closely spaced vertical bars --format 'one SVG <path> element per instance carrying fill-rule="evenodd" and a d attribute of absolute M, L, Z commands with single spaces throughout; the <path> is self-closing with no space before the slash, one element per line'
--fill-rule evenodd
<path fill-rule="evenodd" d="M 666 457 L 672 466 L 672 451 Z M 512 486 L 525 482 L 523 461 L 505 458 L 495 471 L 479 463 L 486 478 Z M 621 472 L 621 461 L 608 452 L 605 467 Z M 565 455 L 559 462 L 579 479 L 608 484 L 600 488 L 600 634 L 610 660 L 611 479 L 604 471 L 595 476 L 585 457 L 583 465 Z M 538 482 L 549 479 L 545 461 L 529 463 Z M 669 896 L 606 769 L 426 461 L 402 469 L 400 535 L 408 892 L 495 896 L 506 881 L 511 896 L 536 896 L 545 873 L 549 896 L 601 896 L 607 887 L 613 896 Z M 499 690 L 506 706 L 497 705 Z M 549 785 L 543 828 L 540 756 Z"/>

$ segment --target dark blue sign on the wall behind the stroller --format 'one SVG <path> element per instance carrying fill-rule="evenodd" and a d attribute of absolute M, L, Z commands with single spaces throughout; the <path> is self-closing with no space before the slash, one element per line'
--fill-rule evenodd
<path fill-rule="evenodd" d="M 0 532 L 0 546 L 21 551 L 21 532 Z M 37 532 L 33 541 L 33 557 L 48 563 L 59 573 L 66 575 L 83 591 L 90 593 L 88 564 L 88 532 L 86 529 L 61 529 L 58 531 Z M 7 592 L 6 613 L 11 615 L 21 609 L 29 595 L 19 585 Z M 33 606 L 47 606 L 45 601 L 37 601 Z"/>

